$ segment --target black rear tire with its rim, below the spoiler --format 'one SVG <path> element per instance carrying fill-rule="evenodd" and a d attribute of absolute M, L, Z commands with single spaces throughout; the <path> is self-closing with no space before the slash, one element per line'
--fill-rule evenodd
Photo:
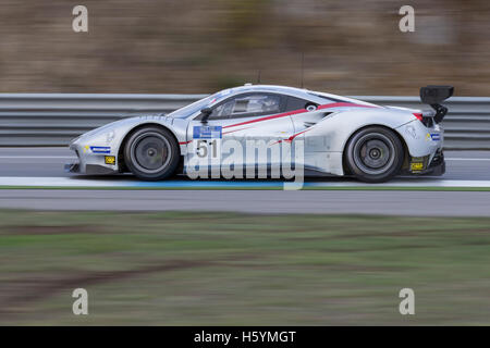
<path fill-rule="evenodd" d="M 355 133 L 345 148 L 345 162 L 354 176 L 366 183 L 383 183 L 400 173 L 403 144 L 388 128 L 372 126 Z"/>

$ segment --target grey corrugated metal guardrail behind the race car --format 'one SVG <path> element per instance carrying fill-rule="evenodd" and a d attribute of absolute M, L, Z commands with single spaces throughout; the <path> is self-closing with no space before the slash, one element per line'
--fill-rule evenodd
<path fill-rule="evenodd" d="M 205 95 L 0 94 L 0 146 L 66 146 L 76 136 L 138 112 L 171 112 Z M 418 97 L 353 97 L 388 105 L 428 109 Z M 448 149 L 490 150 L 490 98 L 444 102 Z"/>

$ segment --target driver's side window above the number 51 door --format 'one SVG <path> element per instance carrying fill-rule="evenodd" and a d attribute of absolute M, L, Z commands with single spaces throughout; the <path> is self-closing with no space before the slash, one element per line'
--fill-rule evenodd
<path fill-rule="evenodd" d="M 218 105 L 209 120 L 253 117 L 280 113 L 281 99 L 279 95 L 269 94 L 237 96 Z"/>

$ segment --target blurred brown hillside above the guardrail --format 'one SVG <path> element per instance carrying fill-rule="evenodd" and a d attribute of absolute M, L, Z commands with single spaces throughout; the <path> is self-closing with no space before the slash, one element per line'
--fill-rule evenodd
<path fill-rule="evenodd" d="M 72 10 L 88 8 L 88 33 Z M 399 10 L 415 8 L 415 33 Z M 1 92 L 211 92 L 257 82 L 345 95 L 452 84 L 490 96 L 485 0 L 2 0 Z"/>

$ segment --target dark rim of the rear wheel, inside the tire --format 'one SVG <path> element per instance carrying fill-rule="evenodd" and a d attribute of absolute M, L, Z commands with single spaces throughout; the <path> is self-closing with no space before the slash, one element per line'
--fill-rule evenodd
<path fill-rule="evenodd" d="M 362 136 L 354 146 L 354 162 L 366 174 L 383 174 L 394 162 L 394 145 L 380 133 Z"/>

